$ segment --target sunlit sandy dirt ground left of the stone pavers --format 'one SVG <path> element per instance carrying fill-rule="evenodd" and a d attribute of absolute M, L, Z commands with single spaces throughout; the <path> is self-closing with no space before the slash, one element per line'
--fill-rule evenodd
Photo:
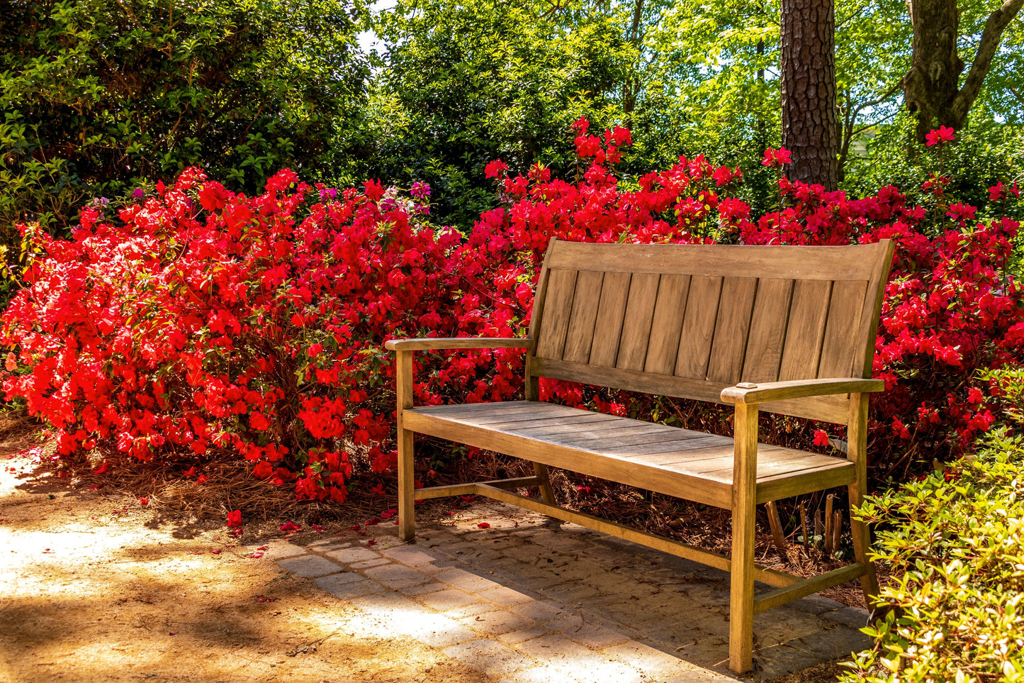
<path fill-rule="evenodd" d="M 488 680 L 246 547 L 0 444 L 0 681 Z M 309 535 L 310 540 L 315 536 Z"/>

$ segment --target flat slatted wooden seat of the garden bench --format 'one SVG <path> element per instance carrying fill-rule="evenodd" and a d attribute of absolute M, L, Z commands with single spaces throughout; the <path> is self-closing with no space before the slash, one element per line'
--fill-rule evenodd
<path fill-rule="evenodd" d="M 532 418 L 487 421 L 490 410 L 501 414 L 512 403 L 516 404 L 516 414 L 529 414 Z M 730 507 L 733 444 L 729 437 L 543 402 L 475 406 L 493 408 L 411 408 L 403 411 L 403 421 L 407 429 L 421 434 L 719 508 Z M 594 421 L 595 418 L 598 420 Z M 852 481 L 853 474 L 853 466 L 846 459 L 759 445 L 759 498 L 762 485 L 772 491 L 802 489 L 804 484 L 796 480 L 817 485 L 823 475 L 841 485 Z"/>

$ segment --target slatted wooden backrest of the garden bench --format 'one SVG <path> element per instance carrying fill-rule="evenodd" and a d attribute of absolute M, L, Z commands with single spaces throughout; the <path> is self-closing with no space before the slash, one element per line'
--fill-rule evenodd
<path fill-rule="evenodd" d="M 893 244 L 553 241 L 534 304 L 532 377 L 720 402 L 740 381 L 867 377 Z M 847 401 L 766 410 L 845 423 Z"/>

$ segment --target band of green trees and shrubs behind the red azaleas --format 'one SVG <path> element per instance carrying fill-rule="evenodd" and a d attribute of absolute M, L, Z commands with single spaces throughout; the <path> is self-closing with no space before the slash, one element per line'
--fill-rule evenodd
<path fill-rule="evenodd" d="M 841 188 L 915 178 L 907 135 L 939 123 L 972 129 L 959 139 L 985 160 L 978 187 L 1024 171 L 1022 2 L 837 4 Z M 745 199 L 768 208 L 774 174 L 760 158 L 780 143 L 781 0 L 398 0 L 376 12 L 348 0 L 8 6 L 8 231 L 24 218 L 70 225 L 89 197 L 196 163 L 247 192 L 284 166 L 313 180 L 427 183 L 435 216 L 465 229 L 494 201 L 483 169 L 496 158 L 573 175 L 570 124 L 581 116 L 635 131 L 625 183 L 708 154 L 739 165 Z M 954 39 L 939 58 L 921 17 L 950 11 Z M 370 29 L 380 56 L 358 45 Z M 942 92 L 922 85 L 942 65 L 952 70 Z M 943 107 L 958 118 L 940 116 Z"/>

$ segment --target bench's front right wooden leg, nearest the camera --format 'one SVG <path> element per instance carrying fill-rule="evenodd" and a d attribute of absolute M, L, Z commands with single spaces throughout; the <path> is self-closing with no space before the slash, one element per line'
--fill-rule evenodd
<path fill-rule="evenodd" d="M 733 419 L 732 558 L 729 563 L 729 669 L 751 670 L 754 657 L 754 543 L 758 476 L 758 405 L 736 404 Z"/>

